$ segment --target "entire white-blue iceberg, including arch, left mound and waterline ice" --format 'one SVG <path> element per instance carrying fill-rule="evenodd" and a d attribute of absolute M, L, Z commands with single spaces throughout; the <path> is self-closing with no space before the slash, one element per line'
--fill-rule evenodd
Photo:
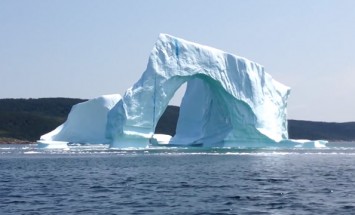
<path fill-rule="evenodd" d="M 175 92 L 186 83 L 176 134 L 155 134 Z M 111 148 L 318 147 L 289 140 L 290 88 L 243 57 L 161 34 L 141 78 L 123 96 L 73 106 L 67 121 L 42 135 L 44 148 L 109 144 Z"/>

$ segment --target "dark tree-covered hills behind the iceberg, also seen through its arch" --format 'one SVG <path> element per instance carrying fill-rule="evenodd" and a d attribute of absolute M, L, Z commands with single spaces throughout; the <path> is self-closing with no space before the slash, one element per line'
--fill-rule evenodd
<path fill-rule="evenodd" d="M 41 98 L 0 99 L 0 142 L 36 141 L 62 124 L 71 107 L 84 99 Z M 169 106 L 156 127 L 156 133 L 175 134 L 179 107 Z M 326 123 L 301 120 L 288 121 L 293 139 L 355 141 L 355 122 Z"/>

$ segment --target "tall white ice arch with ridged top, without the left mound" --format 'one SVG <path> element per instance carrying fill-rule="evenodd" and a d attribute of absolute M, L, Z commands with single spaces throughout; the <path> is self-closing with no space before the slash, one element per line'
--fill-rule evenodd
<path fill-rule="evenodd" d="M 287 139 L 288 87 L 257 63 L 161 34 L 140 80 L 108 113 L 111 145 L 148 144 L 158 119 L 185 82 L 171 143 L 250 145 Z"/>

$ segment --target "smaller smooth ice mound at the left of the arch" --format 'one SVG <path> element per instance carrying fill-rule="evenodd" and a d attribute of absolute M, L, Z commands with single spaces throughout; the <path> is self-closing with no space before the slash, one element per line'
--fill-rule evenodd
<path fill-rule="evenodd" d="M 74 105 L 67 121 L 42 135 L 39 146 L 64 148 L 66 143 L 108 144 L 105 136 L 107 114 L 120 99 L 119 94 L 104 95 Z"/>

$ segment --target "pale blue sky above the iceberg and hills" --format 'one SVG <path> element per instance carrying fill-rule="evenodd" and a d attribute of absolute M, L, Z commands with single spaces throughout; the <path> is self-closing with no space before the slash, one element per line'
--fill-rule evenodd
<path fill-rule="evenodd" d="M 353 0 L 0 0 L 0 98 L 123 94 L 161 32 L 264 65 L 291 119 L 355 121 Z"/>

